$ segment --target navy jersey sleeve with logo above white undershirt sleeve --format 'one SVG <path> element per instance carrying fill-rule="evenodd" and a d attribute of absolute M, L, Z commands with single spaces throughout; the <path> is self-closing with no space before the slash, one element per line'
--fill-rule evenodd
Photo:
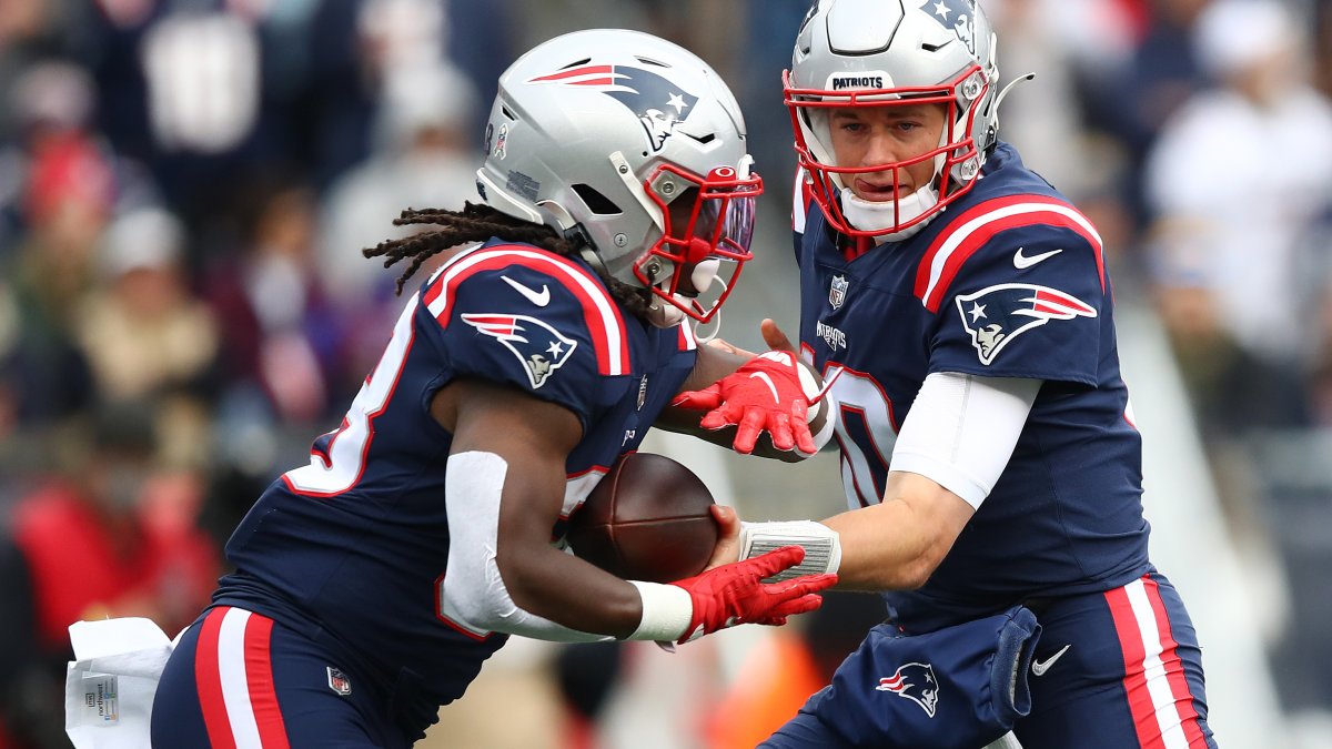
<path fill-rule="evenodd" d="M 927 256 L 916 291 L 935 312 L 930 372 L 1095 385 L 1110 289 L 1088 232 L 1027 225 Z"/>

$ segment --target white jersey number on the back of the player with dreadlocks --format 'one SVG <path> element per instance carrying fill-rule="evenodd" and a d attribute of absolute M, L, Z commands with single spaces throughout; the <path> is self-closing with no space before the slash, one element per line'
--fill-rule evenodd
<path fill-rule="evenodd" d="M 365 378 L 361 390 L 352 400 L 352 406 L 342 417 L 342 426 L 333 433 L 324 453 L 310 452 L 310 464 L 288 470 L 282 474 L 286 485 L 298 494 L 332 497 L 341 494 L 361 480 L 365 470 L 365 456 L 374 440 L 374 418 L 393 396 L 393 388 L 402 373 L 402 364 L 412 349 L 412 316 L 416 312 L 417 297 L 412 297 L 397 324 L 393 337 L 384 349 L 374 372 Z"/>

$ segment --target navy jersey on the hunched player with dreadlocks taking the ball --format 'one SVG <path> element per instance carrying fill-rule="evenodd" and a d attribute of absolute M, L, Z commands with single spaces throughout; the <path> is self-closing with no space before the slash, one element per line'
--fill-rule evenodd
<path fill-rule="evenodd" d="M 506 636 L 440 606 L 446 504 L 469 497 L 445 494 L 452 434 L 430 416 L 434 393 L 472 377 L 575 413 L 567 518 L 638 446 L 695 357 L 689 328 L 634 317 L 581 260 L 497 240 L 450 259 L 408 301 L 341 428 L 236 529 L 226 557 L 237 572 L 214 602 L 314 637 L 388 686 L 421 682 L 433 705 L 457 698 Z"/>

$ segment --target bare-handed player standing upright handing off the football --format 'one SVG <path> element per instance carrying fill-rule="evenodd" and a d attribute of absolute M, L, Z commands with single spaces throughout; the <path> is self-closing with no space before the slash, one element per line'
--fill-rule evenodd
<path fill-rule="evenodd" d="M 968 0 L 819 0 L 795 40 L 801 352 L 851 509 L 745 544 L 805 537 L 890 618 L 767 748 L 1215 746 L 1102 239 L 999 140 L 995 44 Z M 766 408 L 742 378 L 682 402 Z"/>

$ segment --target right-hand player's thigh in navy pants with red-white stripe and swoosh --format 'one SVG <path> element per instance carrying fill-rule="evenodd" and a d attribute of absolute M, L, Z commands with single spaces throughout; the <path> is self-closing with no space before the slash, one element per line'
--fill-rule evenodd
<path fill-rule="evenodd" d="M 1215 748 L 1197 636 L 1168 580 L 1060 601 L 1040 624 L 1024 749 Z"/>

